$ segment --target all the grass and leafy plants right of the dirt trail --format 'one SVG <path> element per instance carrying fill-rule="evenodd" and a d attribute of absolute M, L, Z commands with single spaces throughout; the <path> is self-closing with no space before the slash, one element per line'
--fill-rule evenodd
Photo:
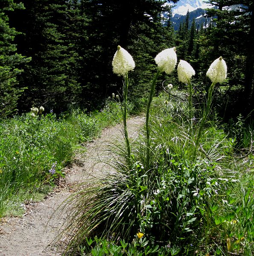
<path fill-rule="evenodd" d="M 253 154 L 240 156 L 238 138 L 212 115 L 200 133 L 187 98 L 172 93 L 180 96 L 152 102 L 149 165 L 144 127 L 131 164 L 113 145 L 115 171 L 68 201 L 66 254 L 254 254 Z"/>

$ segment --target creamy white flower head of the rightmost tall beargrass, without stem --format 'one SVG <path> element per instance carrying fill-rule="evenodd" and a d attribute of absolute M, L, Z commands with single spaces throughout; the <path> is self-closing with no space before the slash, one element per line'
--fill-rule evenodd
<path fill-rule="evenodd" d="M 227 77 L 227 65 L 222 57 L 216 59 L 208 69 L 206 73 L 207 77 L 216 84 L 217 82 L 222 83 Z"/>

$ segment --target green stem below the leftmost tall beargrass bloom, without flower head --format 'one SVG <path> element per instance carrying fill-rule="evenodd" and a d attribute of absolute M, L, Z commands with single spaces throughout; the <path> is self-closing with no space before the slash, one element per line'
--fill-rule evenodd
<path fill-rule="evenodd" d="M 128 85 L 129 79 L 128 74 L 125 75 L 125 81 L 123 83 L 123 129 L 124 129 L 124 138 L 126 142 L 126 149 L 128 154 L 128 162 L 131 159 L 131 147 L 130 141 L 128 138 L 128 131 L 127 131 L 127 93 L 128 93 Z"/>

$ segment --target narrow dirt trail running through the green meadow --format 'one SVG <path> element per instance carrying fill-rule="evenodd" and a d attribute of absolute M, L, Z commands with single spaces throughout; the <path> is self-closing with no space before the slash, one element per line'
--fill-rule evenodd
<path fill-rule="evenodd" d="M 128 133 L 135 139 L 139 135 L 143 117 L 128 120 Z M 122 140 L 122 128 L 118 124 L 103 130 L 100 138 L 87 145 L 85 155 L 76 155 L 71 168 L 66 169 L 66 184 L 56 188 L 44 201 L 26 205 L 22 218 L 8 218 L 0 223 L 0 256 L 51 256 L 61 255 L 57 245 L 48 246 L 58 232 L 64 218 L 53 218 L 57 207 L 75 190 L 75 185 L 87 177 L 102 175 L 108 167 L 103 163 L 105 146 L 109 142 Z M 54 215 L 53 215 L 54 216 Z"/>

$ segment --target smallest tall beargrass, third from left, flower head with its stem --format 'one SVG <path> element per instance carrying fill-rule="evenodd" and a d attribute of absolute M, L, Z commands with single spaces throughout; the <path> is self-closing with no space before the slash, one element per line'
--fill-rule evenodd
<path fill-rule="evenodd" d="M 184 60 L 180 60 L 177 66 L 177 74 L 178 74 L 179 81 L 185 84 L 188 84 L 189 86 L 188 104 L 189 104 L 189 119 L 191 121 L 193 118 L 193 113 L 192 113 L 192 86 L 191 86 L 190 79 L 195 75 L 195 70 L 188 62 Z"/>

